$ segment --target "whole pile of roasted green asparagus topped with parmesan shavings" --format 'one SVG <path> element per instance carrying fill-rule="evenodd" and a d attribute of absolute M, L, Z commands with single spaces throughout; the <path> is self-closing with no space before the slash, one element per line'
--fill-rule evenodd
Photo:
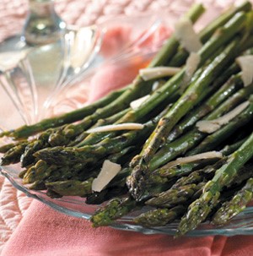
<path fill-rule="evenodd" d="M 1 133 L 14 141 L 0 148 L 1 165 L 20 162 L 24 184 L 51 198 L 108 201 L 93 226 L 145 205 L 151 210 L 133 221 L 180 220 L 179 236 L 202 221 L 226 224 L 253 195 L 253 70 L 241 62 L 252 61 L 251 9 L 230 8 L 196 34 L 204 8 L 194 5 L 126 88 Z M 186 27 L 190 45 L 179 31 Z"/>

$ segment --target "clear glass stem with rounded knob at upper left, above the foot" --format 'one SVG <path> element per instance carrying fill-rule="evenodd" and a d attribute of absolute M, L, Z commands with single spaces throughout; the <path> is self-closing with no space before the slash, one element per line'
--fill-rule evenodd
<path fill-rule="evenodd" d="M 27 44 L 44 45 L 57 41 L 66 30 L 65 22 L 57 15 L 53 0 L 30 0 L 23 36 Z"/>

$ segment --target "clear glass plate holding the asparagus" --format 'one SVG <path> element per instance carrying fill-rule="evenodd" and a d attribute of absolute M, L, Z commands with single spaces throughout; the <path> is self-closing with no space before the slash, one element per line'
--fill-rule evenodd
<path fill-rule="evenodd" d="M 216 13 L 217 14 L 217 13 Z M 179 14 L 173 16 L 173 21 L 175 21 L 175 17 Z M 161 17 L 161 15 L 159 15 Z M 164 16 L 165 17 L 165 16 Z M 168 17 L 168 15 L 166 15 Z M 210 15 L 208 16 L 210 19 Z M 120 20 L 120 24 L 119 24 Z M 135 30 L 132 30 L 132 40 L 127 41 L 120 49 L 117 49 L 116 52 L 110 52 L 110 55 L 106 57 L 100 54 L 99 51 L 97 56 L 94 58 L 94 62 L 92 65 L 83 72 L 83 74 L 78 74 L 78 76 L 73 76 L 72 79 L 69 80 L 69 83 L 62 87 L 61 90 L 58 90 L 57 93 L 53 91 L 54 98 L 51 100 L 50 109 L 47 108 L 47 115 L 57 114 L 59 112 L 66 112 L 72 110 L 74 108 L 83 106 L 83 102 L 85 102 L 88 98 L 88 94 L 90 91 L 89 85 L 91 79 L 94 77 L 94 74 L 98 72 L 98 68 L 106 67 L 108 65 L 116 65 L 124 67 L 124 65 L 129 65 L 129 63 L 136 62 L 137 59 L 142 60 L 142 62 L 150 60 L 153 57 L 153 54 L 157 52 L 159 46 L 164 41 L 163 36 L 159 34 L 159 26 L 171 25 L 171 19 L 158 19 L 156 15 L 153 15 L 153 19 L 150 19 L 150 16 L 144 15 L 143 17 L 133 18 L 122 18 L 117 19 L 117 25 L 134 25 L 138 21 L 138 26 Z M 141 21 L 141 22 L 140 22 Z M 100 29 L 105 30 L 110 27 L 110 25 L 115 25 L 115 20 L 107 20 L 103 24 L 100 25 Z M 203 25 L 203 23 L 201 24 Z M 157 33 L 155 35 L 155 33 Z M 156 37 L 156 45 L 150 47 L 150 45 L 146 44 L 150 40 L 150 36 Z M 160 37 L 159 37 L 160 36 Z M 103 42 L 102 42 L 103 44 Z M 25 63 L 22 63 L 23 66 Z M 22 66 L 22 65 L 21 65 Z M 23 67 L 22 66 L 22 67 Z M 27 72 L 27 67 L 18 70 L 19 74 L 23 72 L 24 78 L 27 79 L 29 74 L 24 73 Z M 30 74 L 32 75 L 32 74 Z M 35 90 L 34 84 L 30 86 L 30 79 L 26 80 L 28 86 L 27 90 L 30 90 L 30 94 L 24 93 L 19 94 L 22 97 L 27 97 L 27 95 L 31 95 L 33 93 L 32 90 Z M 15 89 L 15 88 L 14 88 Z M 17 90 L 17 88 L 16 88 Z M 14 91 L 14 90 L 13 90 Z M 4 91 L 0 91 L 0 93 L 4 93 Z M 47 91 L 48 95 L 51 95 L 52 91 Z M 78 97 L 78 95 L 82 94 L 82 97 Z M 6 102 L 4 103 L 4 107 L 8 109 L 8 113 L 5 117 L 1 114 L 0 116 L 0 127 L 4 129 L 15 128 L 21 124 L 24 124 L 25 118 L 20 118 L 20 102 L 15 102 L 15 99 L 10 99 L 8 96 L 5 97 Z M 22 101 L 23 103 L 25 101 Z M 14 103 L 14 104 L 13 104 Z M 85 103 L 84 103 L 85 104 Z M 43 106 L 40 106 L 43 107 Z M 35 109 L 33 109 L 32 104 L 31 107 L 26 110 L 26 112 L 22 113 L 27 116 L 31 116 L 30 112 L 35 114 Z M 15 122 L 13 122 L 15 121 Z M 8 142 L 8 139 L 3 139 L 3 143 Z M 90 216 L 94 213 L 94 210 L 98 208 L 97 205 L 85 204 L 85 199 L 79 197 L 63 197 L 61 199 L 51 199 L 46 196 L 46 193 L 41 191 L 33 191 L 29 188 L 26 188 L 22 184 L 22 180 L 19 178 L 19 172 L 21 167 L 19 164 L 13 166 L 1 166 L 0 171 L 3 176 L 7 177 L 10 182 L 12 182 L 13 186 L 24 193 L 27 196 L 32 197 L 34 199 L 40 200 L 42 203 L 51 206 L 51 208 L 58 210 L 67 215 L 72 215 L 79 218 L 84 218 L 89 220 Z M 148 209 L 148 208 L 147 208 Z M 142 212 L 147 210 L 143 209 Z M 155 234 L 155 233 L 164 233 L 168 235 L 174 235 L 177 227 L 177 223 L 172 223 L 167 226 L 158 226 L 154 228 L 146 228 L 143 226 L 137 226 L 133 223 L 132 219 L 141 213 L 140 210 L 134 211 L 129 215 L 122 217 L 120 220 L 116 221 L 111 227 L 125 230 L 125 231 L 138 231 L 145 234 Z M 203 223 L 198 227 L 195 231 L 189 232 L 188 236 L 207 236 L 207 235 L 223 235 L 223 236 L 234 236 L 234 235 L 252 235 L 253 234 L 253 207 L 247 207 L 246 210 L 235 217 L 233 221 L 229 223 L 227 226 L 217 227 L 212 226 L 209 223 Z"/>

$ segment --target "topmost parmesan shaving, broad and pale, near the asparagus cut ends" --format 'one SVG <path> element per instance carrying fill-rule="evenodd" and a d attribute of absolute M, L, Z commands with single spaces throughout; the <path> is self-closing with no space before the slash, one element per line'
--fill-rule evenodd
<path fill-rule="evenodd" d="M 188 52 L 197 52 L 202 47 L 190 19 L 180 19 L 175 25 L 175 36 Z"/>

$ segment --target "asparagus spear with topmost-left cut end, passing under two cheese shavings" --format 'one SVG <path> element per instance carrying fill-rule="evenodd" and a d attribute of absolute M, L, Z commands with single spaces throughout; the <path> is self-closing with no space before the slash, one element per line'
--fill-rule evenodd
<path fill-rule="evenodd" d="M 202 5 L 196 4 L 187 12 L 186 17 L 191 19 L 192 22 L 195 22 L 203 11 L 204 8 Z M 170 57 L 175 55 L 175 50 L 178 45 L 179 42 L 175 40 L 174 36 L 171 36 L 157 56 L 153 58 L 153 61 L 148 65 L 148 67 L 156 67 L 165 64 Z M 85 129 L 96 123 L 98 119 L 108 117 L 109 114 L 111 115 L 125 109 L 129 106 L 131 101 L 143 95 L 147 95 L 151 90 L 152 83 L 145 82 L 140 76 L 137 76 L 132 85 L 129 86 L 128 89 L 116 99 L 116 101 L 112 101 L 107 106 L 97 109 L 92 115 L 84 118 L 81 123 L 78 123 L 77 125 L 68 125 L 57 133 L 52 134 L 51 144 L 54 146 L 59 145 L 59 141 L 61 143 L 64 141 L 64 144 L 68 144 L 71 139 L 78 136 L 80 133 L 83 133 Z"/>

